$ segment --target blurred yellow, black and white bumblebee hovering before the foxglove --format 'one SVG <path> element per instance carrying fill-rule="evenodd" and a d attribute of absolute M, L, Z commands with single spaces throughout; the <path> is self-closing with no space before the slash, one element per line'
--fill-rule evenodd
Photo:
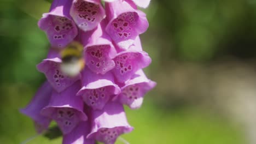
<path fill-rule="evenodd" d="M 62 63 L 60 65 L 63 74 L 74 77 L 84 69 L 83 45 L 78 41 L 68 44 L 60 53 Z"/>

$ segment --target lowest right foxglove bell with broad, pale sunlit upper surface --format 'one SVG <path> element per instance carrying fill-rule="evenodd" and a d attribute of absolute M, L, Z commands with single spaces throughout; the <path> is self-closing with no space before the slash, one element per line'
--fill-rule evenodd
<path fill-rule="evenodd" d="M 92 130 L 87 136 L 106 144 L 113 144 L 117 137 L 130 133 L 133 128 L 127 122 L 123 105 L 108 103 L 103 110 L 91 111 Z"/>

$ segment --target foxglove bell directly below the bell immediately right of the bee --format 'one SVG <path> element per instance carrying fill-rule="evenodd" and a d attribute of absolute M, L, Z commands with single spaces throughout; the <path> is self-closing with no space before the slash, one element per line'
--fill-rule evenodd
<path fill-rule="evenodd" d="M 109 99 L 120 93 L 112 73 L 96 74 L 85 68 L 82 72 L 82 83 L 83 87 L 77 95 L 82 95 L 85 103 L 94 110 L 103 109 Z"/>

